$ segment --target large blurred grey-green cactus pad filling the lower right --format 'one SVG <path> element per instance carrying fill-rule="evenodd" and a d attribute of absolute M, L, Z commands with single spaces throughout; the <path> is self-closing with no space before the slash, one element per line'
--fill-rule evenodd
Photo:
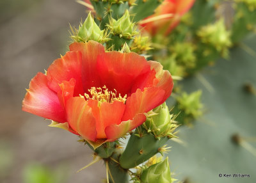
<path fill-rule="evenodd" d="M 249 36 L 232 49 L 229 61 L 218 60 L 214 67 L 205 68 L 200 77 L 212 88 L 205 88 L 200 77 L 182 82 L 188 93 L 202 90 L 205 114 L 193 127 L 179 128 L 183 143 L 172 143 L 169 152 L 175 178 L 191 183 L 256 182 L 255 48 L 256 36 Z M 233 178 L 234 173 L 250 174 L 250 178 Z"/>

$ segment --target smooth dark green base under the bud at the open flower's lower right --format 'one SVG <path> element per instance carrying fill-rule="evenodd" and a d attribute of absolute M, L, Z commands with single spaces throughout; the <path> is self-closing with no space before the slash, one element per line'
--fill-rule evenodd
<path fill-rule="evenodd" d="M 138 127 L 131 134 L 127 146 L 120 156 L 120 166 L 125 169 L 134 168 L 139 164 L 147 161 L 157 152 L 162 152 L 164 144 L 168 141 L 168 137 L 155 138 L 145 129 Z"/>

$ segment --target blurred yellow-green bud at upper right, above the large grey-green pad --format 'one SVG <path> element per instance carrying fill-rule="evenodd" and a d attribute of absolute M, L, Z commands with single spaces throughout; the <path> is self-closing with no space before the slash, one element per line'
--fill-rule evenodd
<path fill-rule="evenodd" d="M 228 49 L 232 46 L 232 42 L 230 41 L 230 31 L 226 30 L 223 19 L 203 26 L 197 31 L 197 35 L 203 44 L 216 49 L 223 58 L 228 57 Z"/>

